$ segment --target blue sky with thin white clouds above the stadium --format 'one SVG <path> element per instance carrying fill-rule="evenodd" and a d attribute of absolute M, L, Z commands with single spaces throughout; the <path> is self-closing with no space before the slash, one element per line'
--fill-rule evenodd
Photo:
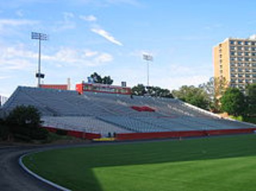
<path fill-rule="evenodd" d="M 256 1 L 245 0 L 2 0 L 0 1 L 0 95 L 18 85 L 36 86 L 38 41 L 44 83 L 76 83 L 94 71 L 114 85 L 178 89 L 213 75 L 212 47 L 226 37 L 256 33 Z"/>

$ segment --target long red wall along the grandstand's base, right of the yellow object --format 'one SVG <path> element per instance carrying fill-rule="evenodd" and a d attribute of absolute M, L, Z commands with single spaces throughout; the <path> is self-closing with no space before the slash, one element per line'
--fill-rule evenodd
<path fill-rule="evenodd" d="M 123 133 L 123 134 L 116 134 L 116 140 L 143 140 L 143 139 L 157 139 L 157 138 L 200 137 L 200 136 L 254 133 L 254 131 L 256 131 L 256 128 L 176 131 L 176 132 L 150 132 L 150 133 Z"/>

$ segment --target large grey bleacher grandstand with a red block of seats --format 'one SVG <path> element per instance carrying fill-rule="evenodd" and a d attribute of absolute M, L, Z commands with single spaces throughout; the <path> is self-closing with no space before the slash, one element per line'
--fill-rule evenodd
<path fill-rule="evenodd" d="M 251 132 L 256 128 L 173 98 L 18 87 L 1 112 L 6 114 L 18 105 L 38 108 L 44 127 L 100 134 L 100 137 L 122 135 L 130 139 L 150 133 L 149 137 L 154 138 L 154 134 L 168 137 L 177 132 L 200 136 L 229 130 Z"/>

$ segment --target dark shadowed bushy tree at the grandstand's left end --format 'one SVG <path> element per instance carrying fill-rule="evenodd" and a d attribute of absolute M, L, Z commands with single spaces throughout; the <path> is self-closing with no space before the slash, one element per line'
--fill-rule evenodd
<path fill-rule="evenodd" d="M 10 133 L 26 140 L 42 140 L 48 136 L 47 130 L 40 127 L 40 113 L 34 106 L 17 106 L 6 118 Z"/>

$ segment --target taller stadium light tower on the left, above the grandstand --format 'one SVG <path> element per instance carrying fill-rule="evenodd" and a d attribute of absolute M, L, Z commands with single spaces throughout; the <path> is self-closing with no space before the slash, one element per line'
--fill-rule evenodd
<path fill-rule="evenodd" d="M 38 45 L 38 73 L 36 73 L 36 78 L 38 78 L 37 86 L 40 87 L 41 78 L 44 78 L 44 74 L 41 73 L 41 40 L 48 40 L 48 35 L 44 33 L 31 33 L 31 39 L 36 39 L 39 41 Z"/>

